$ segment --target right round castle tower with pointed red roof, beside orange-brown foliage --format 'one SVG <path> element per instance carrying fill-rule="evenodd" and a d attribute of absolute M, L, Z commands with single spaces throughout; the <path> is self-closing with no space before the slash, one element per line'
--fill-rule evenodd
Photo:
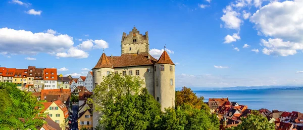
<path fill-rule="evenodd" d="M 164 51 L 154 65 L 155 99 L 161 104 L 161 110 L 175 106 L 175 64 Z"/>

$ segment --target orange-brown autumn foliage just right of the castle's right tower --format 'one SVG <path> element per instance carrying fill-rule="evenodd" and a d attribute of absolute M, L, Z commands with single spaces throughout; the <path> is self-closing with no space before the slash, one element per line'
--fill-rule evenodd
<path fill-rule="evenodd" d="M 203 108 L 207 109 L 207 105 L 203 103 L 204 97 L 197 97 L 195 93 L 190 88 L 183 87 L 181 91 L 176 91 L 176 106 L 181 106 L 183 104 L 188 104 L 194 108 L 201 109 Z"/>

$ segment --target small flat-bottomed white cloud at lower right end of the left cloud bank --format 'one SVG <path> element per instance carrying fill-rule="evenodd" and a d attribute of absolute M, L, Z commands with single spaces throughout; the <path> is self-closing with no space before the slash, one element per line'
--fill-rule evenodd
<path fill-rule="evenodd" d="M 88 57 L 88 53 L 76 48 L 76 47 L 72 47 L 70 48 L 67 53 L 63 52 L 63 53 L 57 53 L 56 54 L 57 57 L 72 57 L 72 58 L 87 58 Z"/>

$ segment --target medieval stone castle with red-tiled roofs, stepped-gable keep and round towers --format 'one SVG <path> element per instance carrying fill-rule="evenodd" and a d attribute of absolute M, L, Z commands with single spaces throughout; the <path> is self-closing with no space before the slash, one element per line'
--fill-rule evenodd
<path fill-rule="evenodd" d="M 149 55 L 148 32 L 142 35 L 134 27 L 129 34 L 123 33 L 121 56 L 106 56 L 103 52 L 92 72 L 94 87 L 110 72 L 139 76 L 145 82 L 142 87 L 161 104 L 162 111 L 175 106 L 175 64 L 166 51 L 159 60 Z"/>

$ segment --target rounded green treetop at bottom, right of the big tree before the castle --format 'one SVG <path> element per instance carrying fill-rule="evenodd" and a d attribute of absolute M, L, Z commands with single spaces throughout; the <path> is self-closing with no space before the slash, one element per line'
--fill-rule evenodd
<path fill-rule="evenodd" d="M 215 120 L 215 121 L 214 121 Z M 168 108 L 162 116 L 161 129 L 219 129 L 219 121 L 205 109 L 183 104 Z"/>

